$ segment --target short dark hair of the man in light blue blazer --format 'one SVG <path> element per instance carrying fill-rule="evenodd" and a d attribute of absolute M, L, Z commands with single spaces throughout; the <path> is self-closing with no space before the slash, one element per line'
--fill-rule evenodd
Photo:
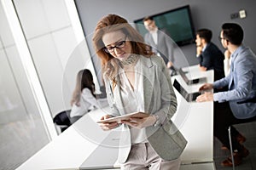
<path fill-rule="evenodd" d="M 241 45 L 243 31 L 236 23 L 224 23 L 222 25 L 223 37 L 234 45 Z"/>

